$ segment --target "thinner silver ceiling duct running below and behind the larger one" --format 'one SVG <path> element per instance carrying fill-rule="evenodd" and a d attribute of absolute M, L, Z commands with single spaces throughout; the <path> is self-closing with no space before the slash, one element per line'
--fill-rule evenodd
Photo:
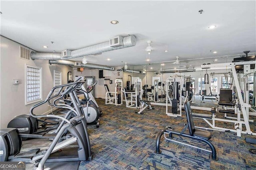
<path fill-rule="evenodd" d="M 77 65 L 79 63 L 79 65 Z M 49 64 L 60 64 L 60 65 L 68 65 L 70 67 L 84 67 L 89 69 L 103 69 L 103 70 L 111 70 L 114 71 L 115 67 L 108 67 L 104 65 L 96 65 L 96 64 L 84 64 L 76 61 L 68 61 L 68 60 L 49 60 Z"/>

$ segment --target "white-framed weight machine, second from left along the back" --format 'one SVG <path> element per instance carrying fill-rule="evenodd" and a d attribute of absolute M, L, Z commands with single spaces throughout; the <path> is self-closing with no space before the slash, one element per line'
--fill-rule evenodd
<path fill-rule="evenodd" d="M 140 107 L 140 99 L 142 99 L 143 89 L 141 79 L 135 81 L 135 91 L 128 90 L 126 87 L 122 89 L 124 93 L 126 107 L 138 109 Z"/>

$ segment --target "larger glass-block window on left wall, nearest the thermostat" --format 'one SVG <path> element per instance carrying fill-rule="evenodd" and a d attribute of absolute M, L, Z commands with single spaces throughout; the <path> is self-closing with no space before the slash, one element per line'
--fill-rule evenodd
<path fill-rule="evenodd" d="M 42 67 L 26 65 L 26 105 L 42 100 Z"/>

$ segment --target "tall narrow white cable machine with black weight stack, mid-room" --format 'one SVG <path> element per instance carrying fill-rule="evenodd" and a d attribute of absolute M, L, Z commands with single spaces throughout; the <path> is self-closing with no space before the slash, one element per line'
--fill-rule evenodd
<path fill-rule="evenodd" d="M 180 91 L 180 84 L 182 84 L 182 79 L 177 75 L 171 76 L 166 80 L 166 114 L 168 116 L 181 116 L 181 99 L 182 94 Z M 168 112 L 168 102 L 171 103 L 171 112 Z"/>

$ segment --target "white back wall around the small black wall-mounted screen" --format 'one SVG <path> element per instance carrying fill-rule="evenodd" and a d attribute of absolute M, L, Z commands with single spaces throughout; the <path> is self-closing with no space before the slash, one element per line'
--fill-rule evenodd
<path fill-rule="evenodd" d="M 118 70 L 120 68 L 121 67 L 115 67 L 115 70 Z M 74 79 L 74 76 L 76 76 L 76 75 L 94 76 L 96 81 L 99 80 L 99 70 L 98 69 L 84 69 L 84 71 L 80 72 L 80 71 L 77 71 L 76 68 L 73 68 L 73 79 Z M 115 79 L 123 79 L 123 71 L 104 70 L 103 76 L 105 77 L 105 79 L 112 80 L 112 84 L 110 84 L 109 80 L 104 80 L 104 78 L 101 78 L 101 80 L 104 81 L 104 84 L 108 85 L 108 88 L 110 91 L 115 91 Z M 106 90 L 105 90 L 104 84 L 103 85 L 99 85 L 99 83 L 96 84 L 96 86 L 95 86 L 95 97 L 96 98 L 105 99 Z"/>

